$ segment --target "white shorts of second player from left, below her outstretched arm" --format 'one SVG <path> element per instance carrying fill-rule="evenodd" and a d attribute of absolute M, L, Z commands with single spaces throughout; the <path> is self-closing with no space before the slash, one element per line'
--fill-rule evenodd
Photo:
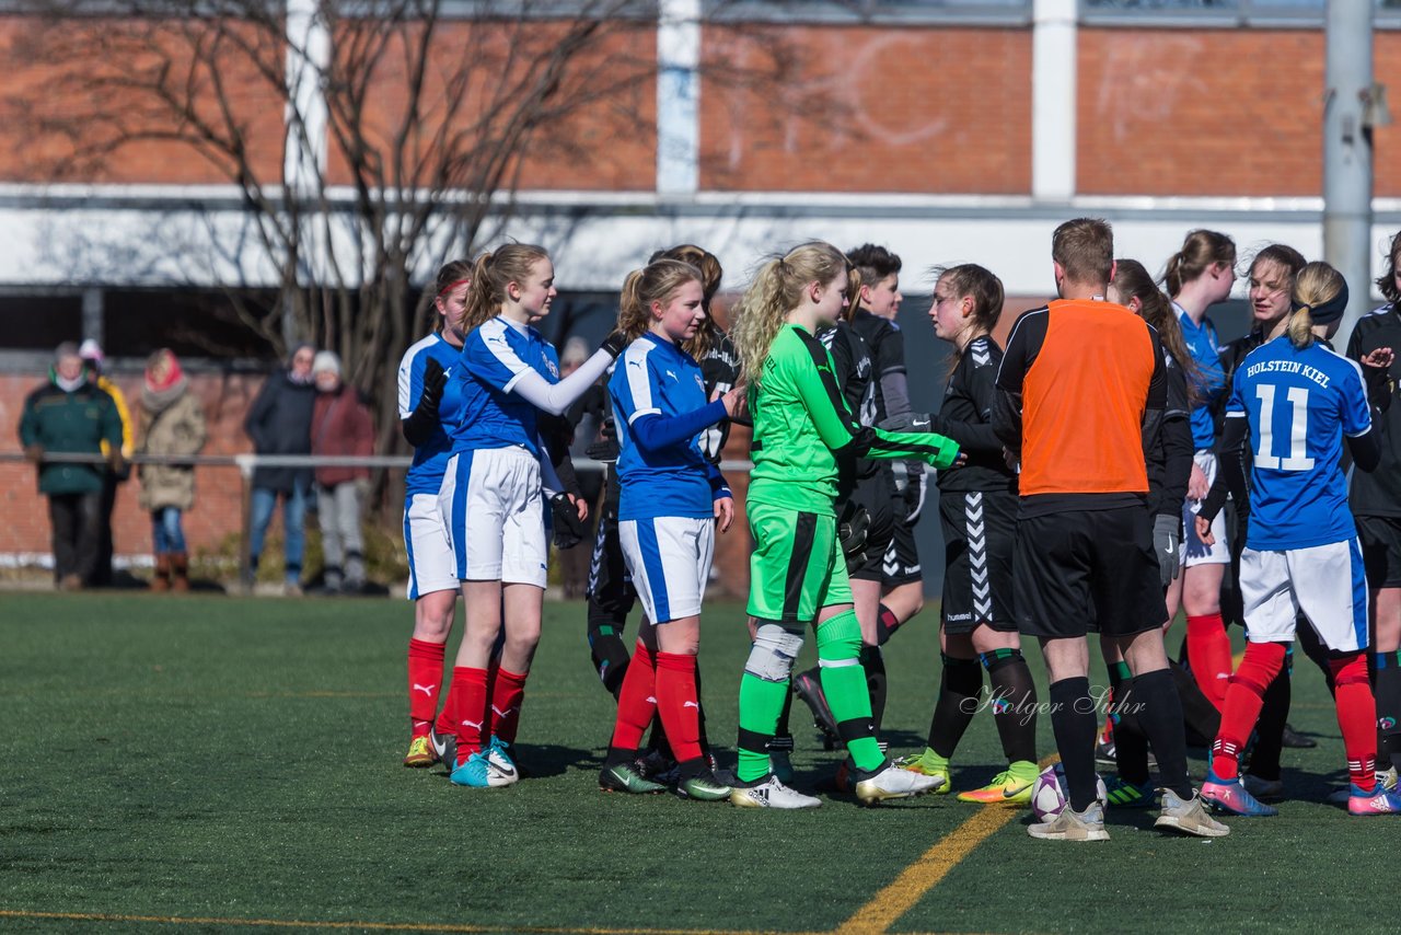
<path fill-rule="evenodd" d="M 523 447 L 461 451 L 447 463 L 439 509 L 460 580 L 545 587 L 539 461 Z"/>

